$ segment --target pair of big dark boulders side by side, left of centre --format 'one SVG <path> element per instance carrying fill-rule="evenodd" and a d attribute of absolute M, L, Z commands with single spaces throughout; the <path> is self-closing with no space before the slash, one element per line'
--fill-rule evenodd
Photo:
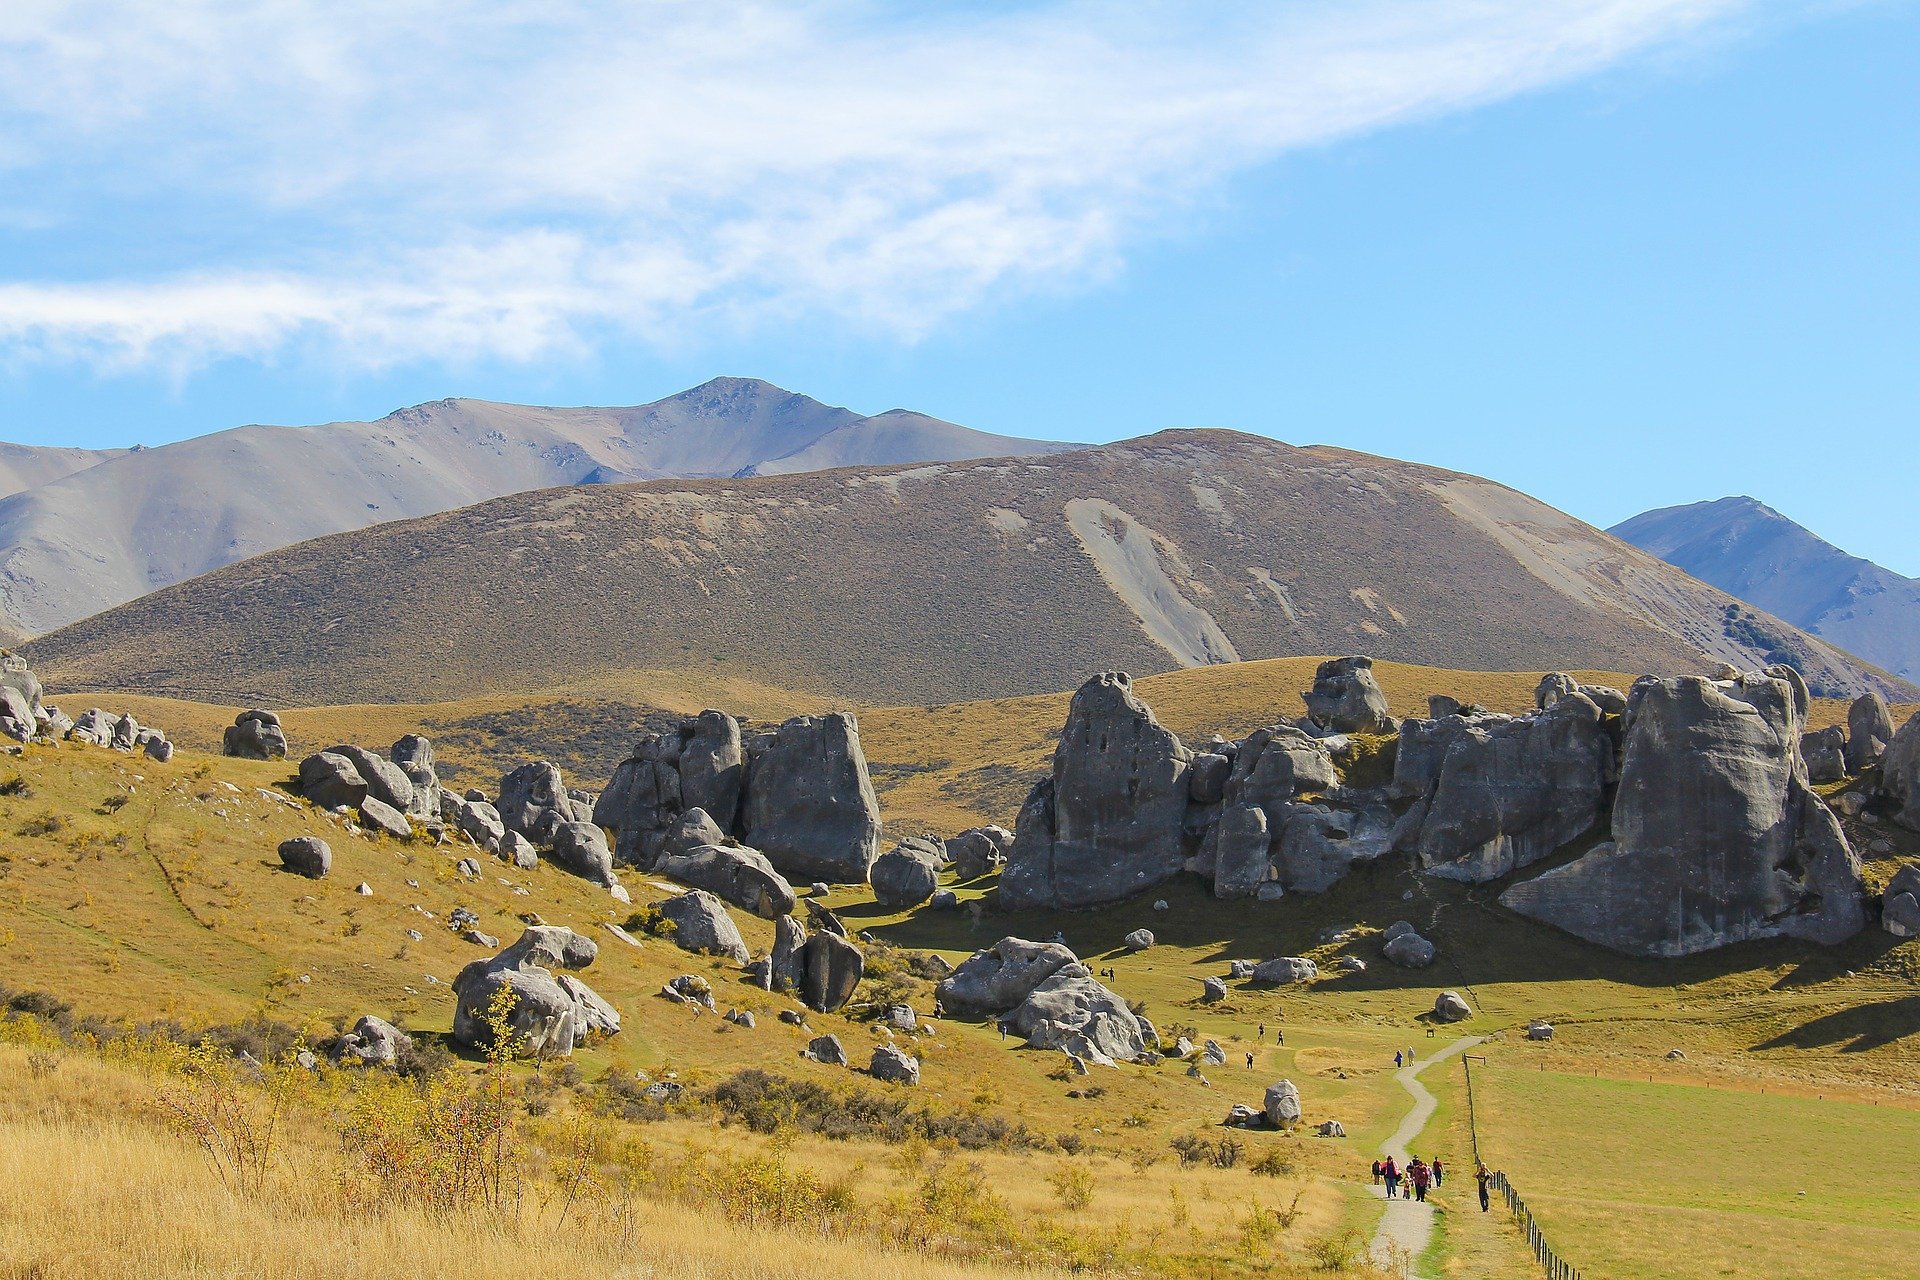
<path fill-rule="evenodd" d="M 647 735 L 593 806 L 614 833 L 622 864 L 657 869 L 684 846 L 685 819 L 718 835 L 714 848 L 749 848 L 783 877 L 864 885 L 879 854 L 879 800 L 845 714 L 795 716 L 745 731 L 707 710 Z"/>

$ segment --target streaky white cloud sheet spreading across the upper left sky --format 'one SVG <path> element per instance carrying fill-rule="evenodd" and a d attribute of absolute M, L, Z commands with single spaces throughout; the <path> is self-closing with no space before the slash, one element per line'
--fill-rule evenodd
<path fill-rule="evenodd" d="M 1292 148 L 1563 83 L 1738 8 L 12 0 L 0 226 L 42 225 L 27 192 L 56 186 L 102 261 L 127 236 L 194 248 L 0 280 L 0 349 L 534 359 L 818 315 L 910 340 L 1114 269 Z M 154 223 L 102 230 L 90 194 Z"/>

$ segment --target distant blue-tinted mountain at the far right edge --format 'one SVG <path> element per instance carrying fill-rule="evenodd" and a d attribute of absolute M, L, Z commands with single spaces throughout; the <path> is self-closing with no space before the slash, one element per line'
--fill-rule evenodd
<path fill-rule="evenodd" d="M 1611 533 L 1847 652 L 1920 679 L 1920 580 L 1847 555 L 1772 507 L 1751 497 L 1663 507 Z"/>

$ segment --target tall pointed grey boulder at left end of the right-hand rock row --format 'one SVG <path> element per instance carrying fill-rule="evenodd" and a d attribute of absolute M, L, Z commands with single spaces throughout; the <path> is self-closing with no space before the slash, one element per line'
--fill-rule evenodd
<path fill-rule="evenodd" d="M 1125 672 L 1081 685 L 1052 777 L 1027 796 L 1014 827 L 1000 904 L 1100 906 L 1173 879 L 1185 864 L 1190 758 Z"/>

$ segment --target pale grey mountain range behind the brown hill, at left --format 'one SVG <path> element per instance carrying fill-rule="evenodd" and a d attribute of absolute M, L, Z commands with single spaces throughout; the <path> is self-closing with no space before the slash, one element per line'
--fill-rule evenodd
<path fill-rule="evenodd" d="M 83 451 L 0 453 L 0 478 L 23 482 L 0 499 L 0 620 L 46 631 L 263 551 L 526 489 L 1066 447 L 904 411 L 862 418 L 768 382 L 714 378 L 632 409 L 444 399 L 378 422 L 242 426 L 92 464 L 42 457 Z"/>

